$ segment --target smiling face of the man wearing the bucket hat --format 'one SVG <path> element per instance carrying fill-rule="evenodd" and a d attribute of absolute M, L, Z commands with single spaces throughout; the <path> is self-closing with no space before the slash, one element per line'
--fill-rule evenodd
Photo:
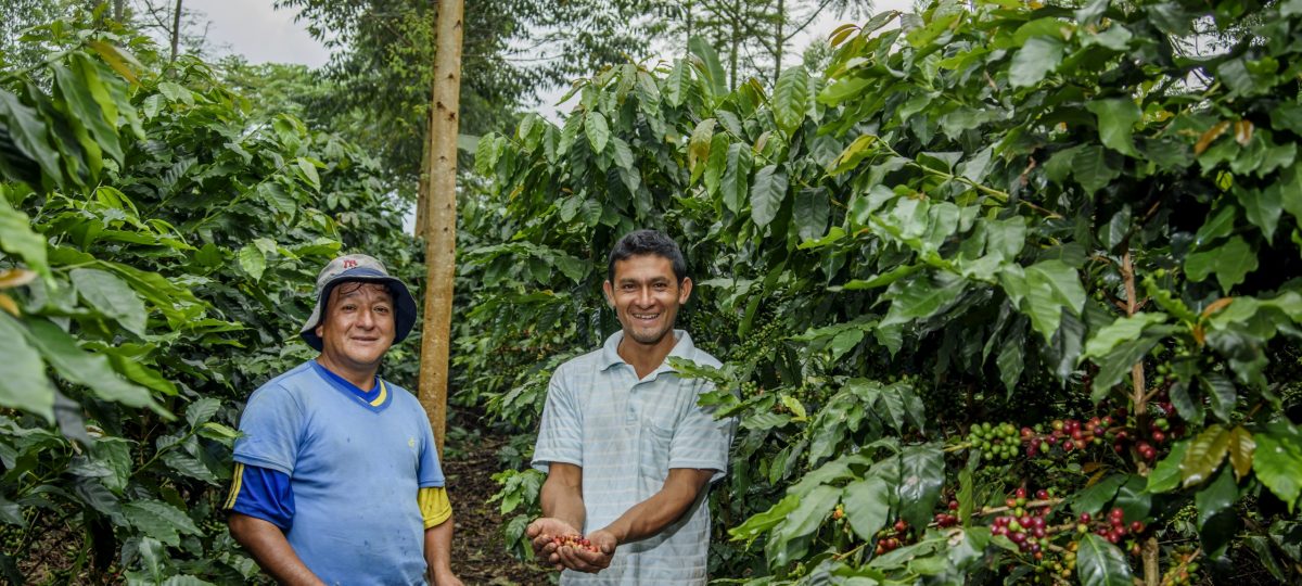
<path fill-rule="evenodd" d="M 337 285 L 326 302 L 316 336 L 331 363 L 353 370 L 378 367 L 393 345 L 393 296 L 375 283 Z"/>

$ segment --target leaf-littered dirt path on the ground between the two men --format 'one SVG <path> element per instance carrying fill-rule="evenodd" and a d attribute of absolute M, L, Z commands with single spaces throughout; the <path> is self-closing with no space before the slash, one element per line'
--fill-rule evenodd
<path fill-rule="evenodd" d="M 499 471 L 496 454 L 503 443 L 503 438 L 477 438 L 474 445 L 462 447 L 443 465 L 457 523 L 452 540 L 452 569 L 467 586 L 547 585 L 551 583 L 548 572 L 505 552 L 501 542 L 504 521 L 497 513 L 497 503 L 488 503 L 497 492 L 492 475 Z"/>

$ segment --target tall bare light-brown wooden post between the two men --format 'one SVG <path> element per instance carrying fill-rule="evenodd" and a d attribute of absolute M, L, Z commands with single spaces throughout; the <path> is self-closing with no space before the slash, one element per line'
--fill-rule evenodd
<path fill-rule="evenodd" d="M 448 425 L 448 352 L 452 346 L 452 279 L 457 245 L 457 112 L 461 107 L 462 0 L 439 0 L 435 21 L 434 98 L 430 105 L 430 190 L 426 194 L 424 327 L 421 340 L 421 405 L 443 454 Z"/>

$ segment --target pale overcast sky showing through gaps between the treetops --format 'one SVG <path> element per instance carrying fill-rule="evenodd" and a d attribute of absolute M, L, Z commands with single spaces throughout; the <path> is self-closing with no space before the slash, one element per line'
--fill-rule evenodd
<path fill-rule="evenodd" d="M 876 12 L 902 10 L 911 0 L 878 0 Z M 329 51 L 307 34 L 306 23 L 294 22 L 297 10 L 276 9 L 272 0 L 186 0 L 185 8 L 194 10 L 199 22 L 208 22 L 208 43 L 217 55 L 243 55 L 249 63 L 296 63 L 319 68 L 329 61 Z M 820 18 L 793 40 L 786 65 L 796 63 L 806 47 L 841 25 L 831 16 Z M 788 59 L 784 59 L 788 61 Z M 569 104 L 556 102 L 566 89 L 548 90 L 538 96 L 534 111 L 556 121 L 557 113 L 569 111 Z"/>

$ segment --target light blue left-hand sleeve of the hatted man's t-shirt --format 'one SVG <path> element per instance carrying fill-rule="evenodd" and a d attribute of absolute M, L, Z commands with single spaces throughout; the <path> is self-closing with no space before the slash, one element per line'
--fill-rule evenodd
<path fill-rule="evenodd" d="M 293 475 L 302 428 L 302 409 L 286 388 L 259 388 L 240 417 L 234 461 Z"/>

